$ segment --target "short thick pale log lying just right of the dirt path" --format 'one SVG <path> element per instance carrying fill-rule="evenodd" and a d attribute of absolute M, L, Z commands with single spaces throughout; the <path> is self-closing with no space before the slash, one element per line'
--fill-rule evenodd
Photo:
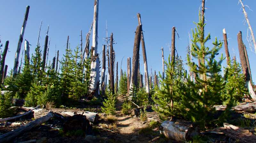
<path fill-rule="evenodd" d="M 199 126 L 187 121 L 164 121 L 160 125 L 159 131 L 166 138 L 183 142 L 192 139 L 193 136 L 199 135 Z"/>

